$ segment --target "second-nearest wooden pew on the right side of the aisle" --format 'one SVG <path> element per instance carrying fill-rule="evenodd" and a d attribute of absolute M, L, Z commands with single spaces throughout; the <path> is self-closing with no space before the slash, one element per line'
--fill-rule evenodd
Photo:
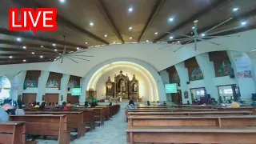
<path fill-rule="evenodd" d="M 256 126 L 256 116 L 162 117 L 130 116 L 128 126 Z"/>

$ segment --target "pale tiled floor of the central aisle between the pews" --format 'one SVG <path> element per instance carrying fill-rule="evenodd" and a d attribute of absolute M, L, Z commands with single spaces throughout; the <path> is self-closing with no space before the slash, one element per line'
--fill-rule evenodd
<path fill-rule="evenodd" d="M 121 110 L 114 117 L 106 121 L 103 126 L 96 127 L 86 133 L 86 136 L 71 141 L 70 144 L 126 144 L 126 116 L 125 106 L 121 104 Z M 38 144 L 56 144 L 56 140 L 38 140 Z"/>

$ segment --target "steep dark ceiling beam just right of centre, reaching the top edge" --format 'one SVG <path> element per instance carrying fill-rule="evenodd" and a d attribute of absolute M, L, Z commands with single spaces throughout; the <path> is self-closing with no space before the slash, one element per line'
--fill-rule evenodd
<path fill-rule="evenodd" d="M 145 26 L 143 27 L 142 34 L 138 37 L 138 42 L 141 41 L 142 36 L 146 33 L 147 28 L 151 25 L 151 22 L 153 22 L 155 16 L 158 14 L 158 12 L 161 10 L 163 4 L 166 2 L 166 0 L 158 0 L 156 4 L 154 5 L 153 10 L 150 13 L 150 17 L 147 19 Z"/>

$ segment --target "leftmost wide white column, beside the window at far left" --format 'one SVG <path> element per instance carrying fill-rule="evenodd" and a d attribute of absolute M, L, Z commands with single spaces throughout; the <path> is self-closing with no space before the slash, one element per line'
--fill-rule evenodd
<path fill-rule="evenodd" d="M 26 70 L 20 71 L 17 75 L 14 75 L 10 78 L 11 90 L 10 90 L 10 98 L 17 100 L 18 95 L 22 95 L 23 84 L 26 78 Z"/>

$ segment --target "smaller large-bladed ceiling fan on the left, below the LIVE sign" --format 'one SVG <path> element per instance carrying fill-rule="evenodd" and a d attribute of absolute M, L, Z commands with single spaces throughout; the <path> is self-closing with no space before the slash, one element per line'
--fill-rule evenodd
<path fill-rule="evenodd" d="M 66 40 L 66 36 L 63 36 L 63 39 L 64 39 L 64 42 Z M 54 51 L 55 52 L 55 51 Z M 86 51 L 83 50 L 83 51 L 70 51 L 69 53 L 66 53 L 66 46 L 64 46 L 64 50 L 62 52 L 62 54 L 59 54 L 57 52 L 55 52 L 57 55 L 54 56 L 54 61 L 58 60 L 58 59 L 61 59 L 61 63 L 63 62 L 64 58 L 68 58 L 70 59 L 71 61 L 75 62 L 75 63 L 78 63 L 77 61 L 74 60 L 74 58 L 77 58 L 77 59 L 81 59 L 81 60 L 84 60 L 84 61 L 90 61 L 89 59 L 86 59 L 86 57 L 94 57 L 94 56 L 89 56 L 89 55 L 79 55 L 78 53 L 85 53 Z M 82 58 L 81 58 L 82 57 Z"/>

